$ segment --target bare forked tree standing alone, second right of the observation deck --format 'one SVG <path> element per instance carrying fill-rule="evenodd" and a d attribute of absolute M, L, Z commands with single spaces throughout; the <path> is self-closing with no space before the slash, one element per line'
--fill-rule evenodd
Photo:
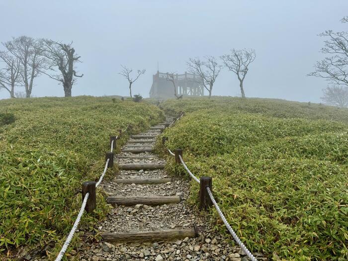
<path fill-rule="evenodd" d="M 244 79 L 249 71 L 249 65 L 254 62 L 256 53 L 254 49 L 232 49 L 231 54 L 225 54 L 220 57 L 224 66 L 237 75 L 242 97 L 245 98 Z"/>

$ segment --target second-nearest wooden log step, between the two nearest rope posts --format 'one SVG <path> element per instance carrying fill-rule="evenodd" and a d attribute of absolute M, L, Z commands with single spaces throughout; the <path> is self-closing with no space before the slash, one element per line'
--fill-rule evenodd
<path fill-rule="evenodd" d="M 106 198 L 106 202 L 111 205 L 134 206 L 137 204 L 144 205 L 163 205 L 179 203 L 179 196 L 110 196 Z"/>

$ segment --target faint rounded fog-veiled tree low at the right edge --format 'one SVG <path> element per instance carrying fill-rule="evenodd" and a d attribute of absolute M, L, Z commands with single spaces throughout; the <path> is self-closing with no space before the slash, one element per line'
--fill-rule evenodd
<path fill-rule="evenodd" d="M 348 107 L 348 86 L 328 86 L 323 89 L 321 99 L 326 103 L 341 108 Z"/>

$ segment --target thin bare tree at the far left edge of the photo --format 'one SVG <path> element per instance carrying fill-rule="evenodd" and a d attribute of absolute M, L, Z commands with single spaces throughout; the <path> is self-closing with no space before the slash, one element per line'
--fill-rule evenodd
<path fill-rule="evenodd" d="M 6 89 L 10 97 L 15 98 L 14 88 L 22 84 L 20 61 L 8 52 L 0 52 L 0 59 L 4 63 L 4 68 L 0 69 L 0 89 Z"/>

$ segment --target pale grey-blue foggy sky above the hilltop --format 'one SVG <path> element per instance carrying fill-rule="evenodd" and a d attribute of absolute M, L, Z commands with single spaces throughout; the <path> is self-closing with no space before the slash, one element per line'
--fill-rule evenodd
<path fill-rule="evenodd" d="M 326 29 L 347 30 L 347 0 L 0 0 L 0 42 L 28 35 L 74 41 L 84 74 L 73 95 L 128 95 L 120 64 L 147 72 L 133 93 L 149 95 L 152 75 L 187 71 L 189 57 L 220 56 L 231 48 L 254 48 L 244 86 L 249 97 L 319 102 L 327 82 L 306 74 L 323 58 Z M 1 46 L 1 50 L 3 47 Z M 18 90 L 24 90 L 20 88 Z M 34 96 L 64 96 L 47 76 L 37 78 Z M 213 95 L 239 95 L 226 69 Z M 9 97 L 5 90 L 0 98 Z"/>

